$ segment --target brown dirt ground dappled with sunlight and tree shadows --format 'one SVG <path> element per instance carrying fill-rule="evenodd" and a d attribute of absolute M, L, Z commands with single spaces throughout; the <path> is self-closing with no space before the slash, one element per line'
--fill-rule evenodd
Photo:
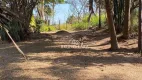
<path fill-rule="evenodd" d="M 0 42 L 0 80 L 142 80 L 137 38 L 119 40 L 117 51 L 108 50 L 103 30 L 43 33 L 18 45 L 28 61 L 13 44 Z"/>

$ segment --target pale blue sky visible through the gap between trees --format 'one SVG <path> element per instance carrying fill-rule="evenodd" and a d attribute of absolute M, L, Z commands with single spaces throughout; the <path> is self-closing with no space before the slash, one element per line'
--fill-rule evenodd
<path fill-rule="evenodd" d="M 72 1 L 74 2 L 75 0 L 72 0 Z M 60 21 L 60 24 L 66 23 L 67 18 L 74 13 L 72 12 L 73 10 L 74 9 L 71 8 L 70 4 L 66 4 L 66 3 L 56 4 L 54 9 L 55 14 L 54 16 L 50 17 L 51 24 L 59 24 L 59 21 Z M 36 14 L 35 10 L 34 10 L 34 14 Z"/>

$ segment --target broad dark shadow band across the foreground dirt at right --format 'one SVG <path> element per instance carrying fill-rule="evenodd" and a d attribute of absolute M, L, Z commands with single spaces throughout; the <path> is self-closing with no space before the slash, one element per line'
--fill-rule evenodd
<path fill-rule="evenodd" d="M 123 55 L 111 55 L 110 57 L 103 56 L 66 56 L 54 59 L 54 63 L 66 63 L 71 66 L 88 67 L 88 66 L 104 66 L 121 63 L 142 63 L 142 58 L 124 57 Z M 100 65 L 101 64 L 101 65 Z"/>

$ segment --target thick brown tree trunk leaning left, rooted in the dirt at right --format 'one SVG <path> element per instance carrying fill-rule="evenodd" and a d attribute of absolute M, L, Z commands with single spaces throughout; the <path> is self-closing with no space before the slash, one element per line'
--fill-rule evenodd
<path fill-rule="evenodd" d="M 105 7 L 106 7 L 107 19 L 108 19 L 109 30 L 110 30 L 111 50 L 117 50 L 118 49 L 117 36 L 116 36 L 116 31 L 115 31 L 113 18 L 112 18 L 112 11 L 110 8 L 109 0 L 105 0 Z"/>

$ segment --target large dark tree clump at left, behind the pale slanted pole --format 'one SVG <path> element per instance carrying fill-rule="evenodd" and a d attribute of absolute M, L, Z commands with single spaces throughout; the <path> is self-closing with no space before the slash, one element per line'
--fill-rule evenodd
<path fill-rule="evenodd" d="M 25 40 L 30 34 L 31 16 L 38 0 L 1 0 L 1 3 L 1 8 L 6 12 L 5 15 L 8 15 L 10 12 L 16 14 L 14 17 L 7 16 L 10 22 L 7 22 L 7 25 L 1 23 L 2 26 L 7 26 L 10 35 L 15 41 Z M 0 32 L 3 32 L 1 34 L 3 40 L 9 40 L 9 38 L 6 38 L 6 35 L 3 35 L 5 32 L 2 30 Z"/>

